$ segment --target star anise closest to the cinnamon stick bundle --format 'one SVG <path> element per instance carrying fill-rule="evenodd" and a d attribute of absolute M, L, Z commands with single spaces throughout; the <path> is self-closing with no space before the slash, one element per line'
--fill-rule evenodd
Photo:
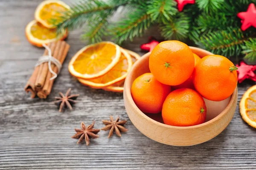
<path fill-rule="evenodd" d="M 70 95 L 70 91 L 71 88 L 67 90 L 66 95 L 64 95 L 62 92 L 59 92 L 61 97 L 55 97 L 57 101 L 55 101 L 54 104 L 59 107 L 59 112 L 61 112 L 64 107 L 69 107 L 70 110 L 72 110 L 72 105 L 76 103 L 75 100 L 79 94 Z"/>

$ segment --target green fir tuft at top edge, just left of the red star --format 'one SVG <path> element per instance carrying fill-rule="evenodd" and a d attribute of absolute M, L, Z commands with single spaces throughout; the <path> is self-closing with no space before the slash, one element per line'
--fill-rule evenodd
<path fill-rule="evenodd" d="M 150 15 L 152 21 L 164 22 L 171 20 L 172 15 L 175 15 L 177 3 L 173 0 L 149 0 L 147 2 L 147 14 Z"/>

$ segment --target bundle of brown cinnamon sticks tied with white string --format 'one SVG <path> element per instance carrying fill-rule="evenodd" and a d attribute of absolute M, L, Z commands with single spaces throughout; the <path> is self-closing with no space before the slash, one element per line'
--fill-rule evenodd
<path fill-rule="evenodd" d="M 59 40 L 49 43 L 47 46 L 52 52 L 52 57 L 56 58 L 62 64 L 67 56 L 70 45 L 65 41 Z M 47 49 L 45 49 L 44 55 L 49 55 Z M 51 68 L 53 72 L 58 73 L 58 67 L 54 63 L 51 63 Z M 35 98 L 36 95 L 39 98 L 47 98 L 55 80 L 50 80 L 52 76 L 53 74 L 48 68 L 48 62 L 41 63 L 35 67 L 34 72 L 25 86 L 25 91 L 27 93 L 31 92 L 31 98 Z"/>

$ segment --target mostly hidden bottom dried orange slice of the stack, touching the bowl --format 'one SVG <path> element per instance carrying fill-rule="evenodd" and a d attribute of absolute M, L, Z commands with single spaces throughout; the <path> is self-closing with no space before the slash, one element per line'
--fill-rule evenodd
<path fill-rule="evenodd" d="M 140 59 L 140 55 L 138 55 L 136 52 L 130 51 L 128 49 L 125 49 L 126 52 L 129 53 L 129 55 L 131 55 L 131 61 L 132 64 L 135 63 L 135 61 Z M 111 92 L 123 92 L 124 91 L 124 84 L 125 84 L 125 80 L 117 82 L 111 86 L 107 86 L 105 88 L 103 88 L 106 91 L 111 91 Z"/>

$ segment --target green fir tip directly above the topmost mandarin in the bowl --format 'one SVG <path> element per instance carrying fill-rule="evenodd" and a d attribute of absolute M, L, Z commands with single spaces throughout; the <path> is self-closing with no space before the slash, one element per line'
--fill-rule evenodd
<path fill-rule="evenodd" d="M 161 35 L 165 39 L 183 40 L 188 37 L 190 18 L 183 12 L 171 17 L 169 23 L 160 24 Z"/>

